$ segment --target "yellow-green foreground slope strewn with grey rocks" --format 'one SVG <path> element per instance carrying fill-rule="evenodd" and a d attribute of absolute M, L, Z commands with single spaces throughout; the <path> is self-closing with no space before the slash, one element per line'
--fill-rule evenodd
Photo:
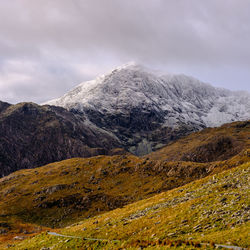
<path fill-rule="evenodd" d="M 249 247 L 249 170 L 243 164 L 56 231 L 71 238 L 42 233 L 13 249 Z"/>

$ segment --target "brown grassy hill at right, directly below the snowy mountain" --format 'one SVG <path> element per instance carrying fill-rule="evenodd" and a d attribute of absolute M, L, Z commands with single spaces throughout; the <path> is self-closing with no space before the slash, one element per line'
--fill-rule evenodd
<path fill-rule="evenodd" d="M 167 161 L 222 161 L 250 148 L 250 121 L 206 128 L 179 139 L 147 157 Z"/>

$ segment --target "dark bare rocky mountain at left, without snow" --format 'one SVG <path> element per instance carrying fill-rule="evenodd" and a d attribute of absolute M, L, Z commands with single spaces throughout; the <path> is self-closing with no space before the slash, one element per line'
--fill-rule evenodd
<path fill-rule="evenodd" d="M 0 102 L 0 176 L 72 157 L 112 153 L 108 132 L 61 107 Z"/>

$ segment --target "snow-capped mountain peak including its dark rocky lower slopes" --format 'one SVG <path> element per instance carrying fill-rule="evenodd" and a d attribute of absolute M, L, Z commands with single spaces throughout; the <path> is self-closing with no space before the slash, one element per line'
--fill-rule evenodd
<path fill-rule="evenodd" d="M 136 155 L 205 127 L 250 119 L 250 94 L 128 64 L 47 102 L 82 113 Z"/>

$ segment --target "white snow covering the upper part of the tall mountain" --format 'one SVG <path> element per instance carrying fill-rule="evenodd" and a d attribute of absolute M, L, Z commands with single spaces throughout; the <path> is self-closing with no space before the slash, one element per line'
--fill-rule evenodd
<path fill-rule="evenodd" d="M 79 84 L 63 97 L 47 102 L 67 109 L 100 112 L 153 108 L 168 118 L 205 126 L 250 119 L 250 95 L 215 88 L 185 75 L 157 76 L 140 65 L 118 67 L 107 75 Z"/>

